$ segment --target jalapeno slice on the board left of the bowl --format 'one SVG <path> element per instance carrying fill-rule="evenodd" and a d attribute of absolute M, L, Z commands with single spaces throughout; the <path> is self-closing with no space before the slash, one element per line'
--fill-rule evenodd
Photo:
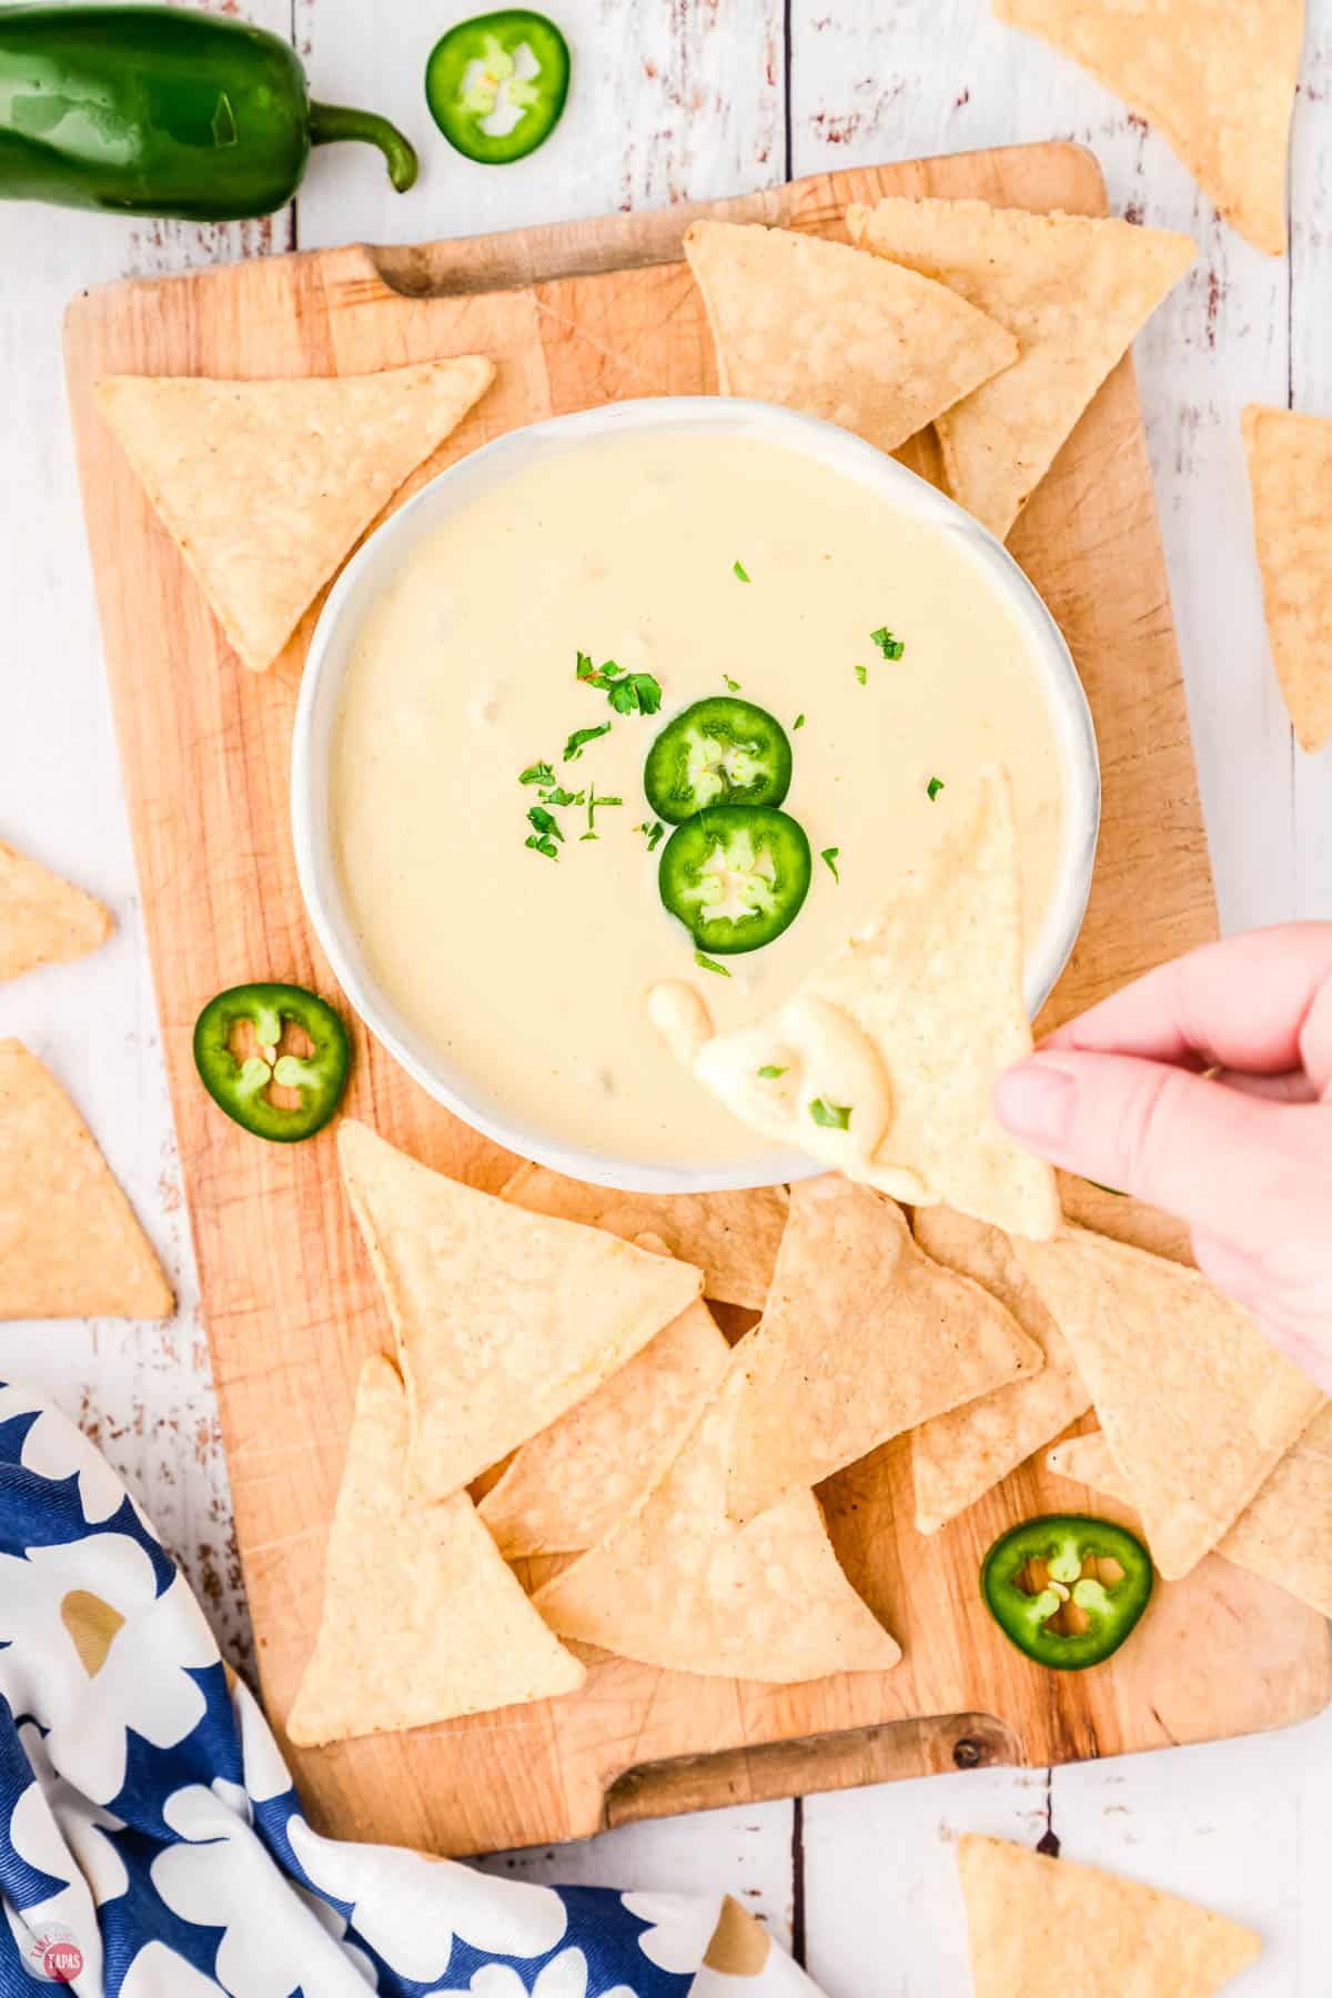
<path fill-rule="evenodd" d="M 310 1051 L 280 1051 L 288 1027 L 300 1027 Z M 194 1065 L 208 1095 L 244 1131 L 276 1145 L 324 1129 L 347 1087 L 349 1059 L 341 1019 L 304 985 L 232 985 L 194 1023 Z M 300 1101 L 274 1103 L 274 1083 Z"/>

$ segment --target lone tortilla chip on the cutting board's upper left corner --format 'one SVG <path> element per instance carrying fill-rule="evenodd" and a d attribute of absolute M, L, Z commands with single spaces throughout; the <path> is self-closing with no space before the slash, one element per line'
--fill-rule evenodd
<path fill-rule="evenodd" d="M 493 380 L 493 362 L 463 354 L 282 382 L 104 376 L 96 396 L 230 643 L 260 673 Z"/>

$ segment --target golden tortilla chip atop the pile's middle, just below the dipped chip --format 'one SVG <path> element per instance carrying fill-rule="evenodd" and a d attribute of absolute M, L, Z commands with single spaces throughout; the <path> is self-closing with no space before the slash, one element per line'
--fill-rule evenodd
<path fill-rule="evenodd" d="M 901 1207 L 829 1173 L 791 1189 L 767 1311 L 731 1369 L 743 1385 L 727 1512 L 743 1522 L 1036 1373 L 1040 1349 L 999 1299 L 917 1249 Z"/>

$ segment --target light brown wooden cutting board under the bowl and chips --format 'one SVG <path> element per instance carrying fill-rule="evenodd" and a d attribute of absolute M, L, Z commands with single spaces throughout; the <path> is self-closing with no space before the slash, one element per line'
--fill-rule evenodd
<path fill-rule="evenodd" d="M 1062 144 L 819 176 L 709 212 L 841 236 L 847 202 L 881 194 L 1104 212 L 1094 160 Z M 204 1001 L 240 979 L 333 989 L 288 837 L 310 621 L 268 675 L 240 667 L 90 390 L 112 370 L 335 374 L 491 354 L 495 388 L 419 484 L 533 418 L 713 390 L 703 308 L 679 262 L 697 212 L 272 258 L 116 284 L 68 314 L 106 661 L 262 1688 L 278 1726 L 320 1614 L 353 1383 L 361 1359 L 389 1347 L 389 1325 L 332 1131 L 290 1149 L 240 1133 L 198 1087 L 190 1033 Z M 1096 883 L 1052 1021 L 1210 937 L 1216 919 L 1128 364 L 1086 412 L 1012 545 L 1078 661 L 1104 775 Z M 505 1153 L 433 1105 L 359 1031 L 355 1053 L 355 1115 L 429 1165 L 499 1187 L 513 1163 Z M 1070 1203 L 1110 1233 L 1178 1249 L 1164 1217 L 1080 1183 Z M 1076 1498 L 1030 1465 L 933 1540 L 911 1526 L 901 1447 L 843 1473 L 825 1498 L 843 1562 L 905 1646 L 895 1672 L 773 1688 L 599 1658 L 561 1702 L 294 1754 L 312 1818 L 343 1836 L 477 1852 L 795 1790 L 1226 1736 L 1296 1720 L 1332 1696 L 1324 1622 L 1220 1558 L 1160 1590 L 1142 1632 L 1102 1670 L 1056 1676 L 1020 1658 L 977 1602 L 977 1564 L 1004 1526 Z"/>

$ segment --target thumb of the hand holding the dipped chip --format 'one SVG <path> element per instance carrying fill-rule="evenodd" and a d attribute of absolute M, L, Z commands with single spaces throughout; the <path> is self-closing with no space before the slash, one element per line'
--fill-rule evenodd
<path fill-rule="evenodd" d="M 1290 1227 L 1300 1161 L 1312 1153 L 1314 1163 L 1318 1137 L 1328 1145 L 1322 1109 L 1242 1095 L 1136 1055 L 1030 1055 L 995 1083 L 995 1113 L 1052 1165 L 1236 1243 Z"/>

